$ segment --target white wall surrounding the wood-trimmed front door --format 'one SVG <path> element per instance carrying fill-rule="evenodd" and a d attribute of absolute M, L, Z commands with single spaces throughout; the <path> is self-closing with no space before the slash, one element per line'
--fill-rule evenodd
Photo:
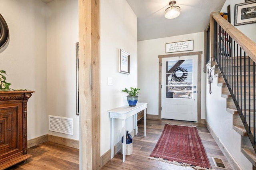
<path fill-rule="evenodd" d="M 158 55 L 169 54 L 165 53 L 166 43 L 186 40 L 194 40 L 193 51 L 204 51 L 204 32 L 138 42 L 138 87 L 141 89 L 139 101 L 148 103 L 147 113 L 149 115 L 158 115 Z M 193 51 L 182 51 L 178 53 Z M 202 54 L 203 56 L 204 54 Z M 204 119 L 205 73 L 203 72 L 203 67 L 201 72 L 201 118 Z"/>

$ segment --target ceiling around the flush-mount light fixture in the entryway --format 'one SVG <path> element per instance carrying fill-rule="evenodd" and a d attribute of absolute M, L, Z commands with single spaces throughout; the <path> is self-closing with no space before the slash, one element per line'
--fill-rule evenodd
<path fill-rule="evenodd" d="M 210 13 L 221 10 L 226 0 L 176 0 L 180 16 L 166 19 L 170 0 L 126 0 L 138 17 L 138 41 L 203 32 Z"/>

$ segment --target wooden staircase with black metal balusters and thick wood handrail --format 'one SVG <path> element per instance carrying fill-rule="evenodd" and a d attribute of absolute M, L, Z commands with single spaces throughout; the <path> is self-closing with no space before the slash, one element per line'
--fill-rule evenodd
<path fill-rule="evenodd" d="M 256 43 L 213 12 L 211 68 L 222 87 L 233 129 L 241 135 L 240 151 L 256 169 Z"/>

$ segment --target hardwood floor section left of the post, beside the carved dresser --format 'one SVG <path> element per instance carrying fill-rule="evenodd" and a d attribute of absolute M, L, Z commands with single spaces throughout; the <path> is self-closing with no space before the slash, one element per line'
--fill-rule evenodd
<path fill-rule="evenodd" d="M 56 144 L 44 142 L 31 148 L 28 153 L 32 155 L 27 162 L 21 162 L 8 168 L 8 170 L 78 170 L 79 150 Z"/>

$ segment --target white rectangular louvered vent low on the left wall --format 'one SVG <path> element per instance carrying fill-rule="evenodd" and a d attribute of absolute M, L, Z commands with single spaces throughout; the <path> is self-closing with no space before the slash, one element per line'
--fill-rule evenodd
<path fill-rule="evenodd" d="M 49 115 L 49 130 L 73 135 L 73 119 Z"/>

